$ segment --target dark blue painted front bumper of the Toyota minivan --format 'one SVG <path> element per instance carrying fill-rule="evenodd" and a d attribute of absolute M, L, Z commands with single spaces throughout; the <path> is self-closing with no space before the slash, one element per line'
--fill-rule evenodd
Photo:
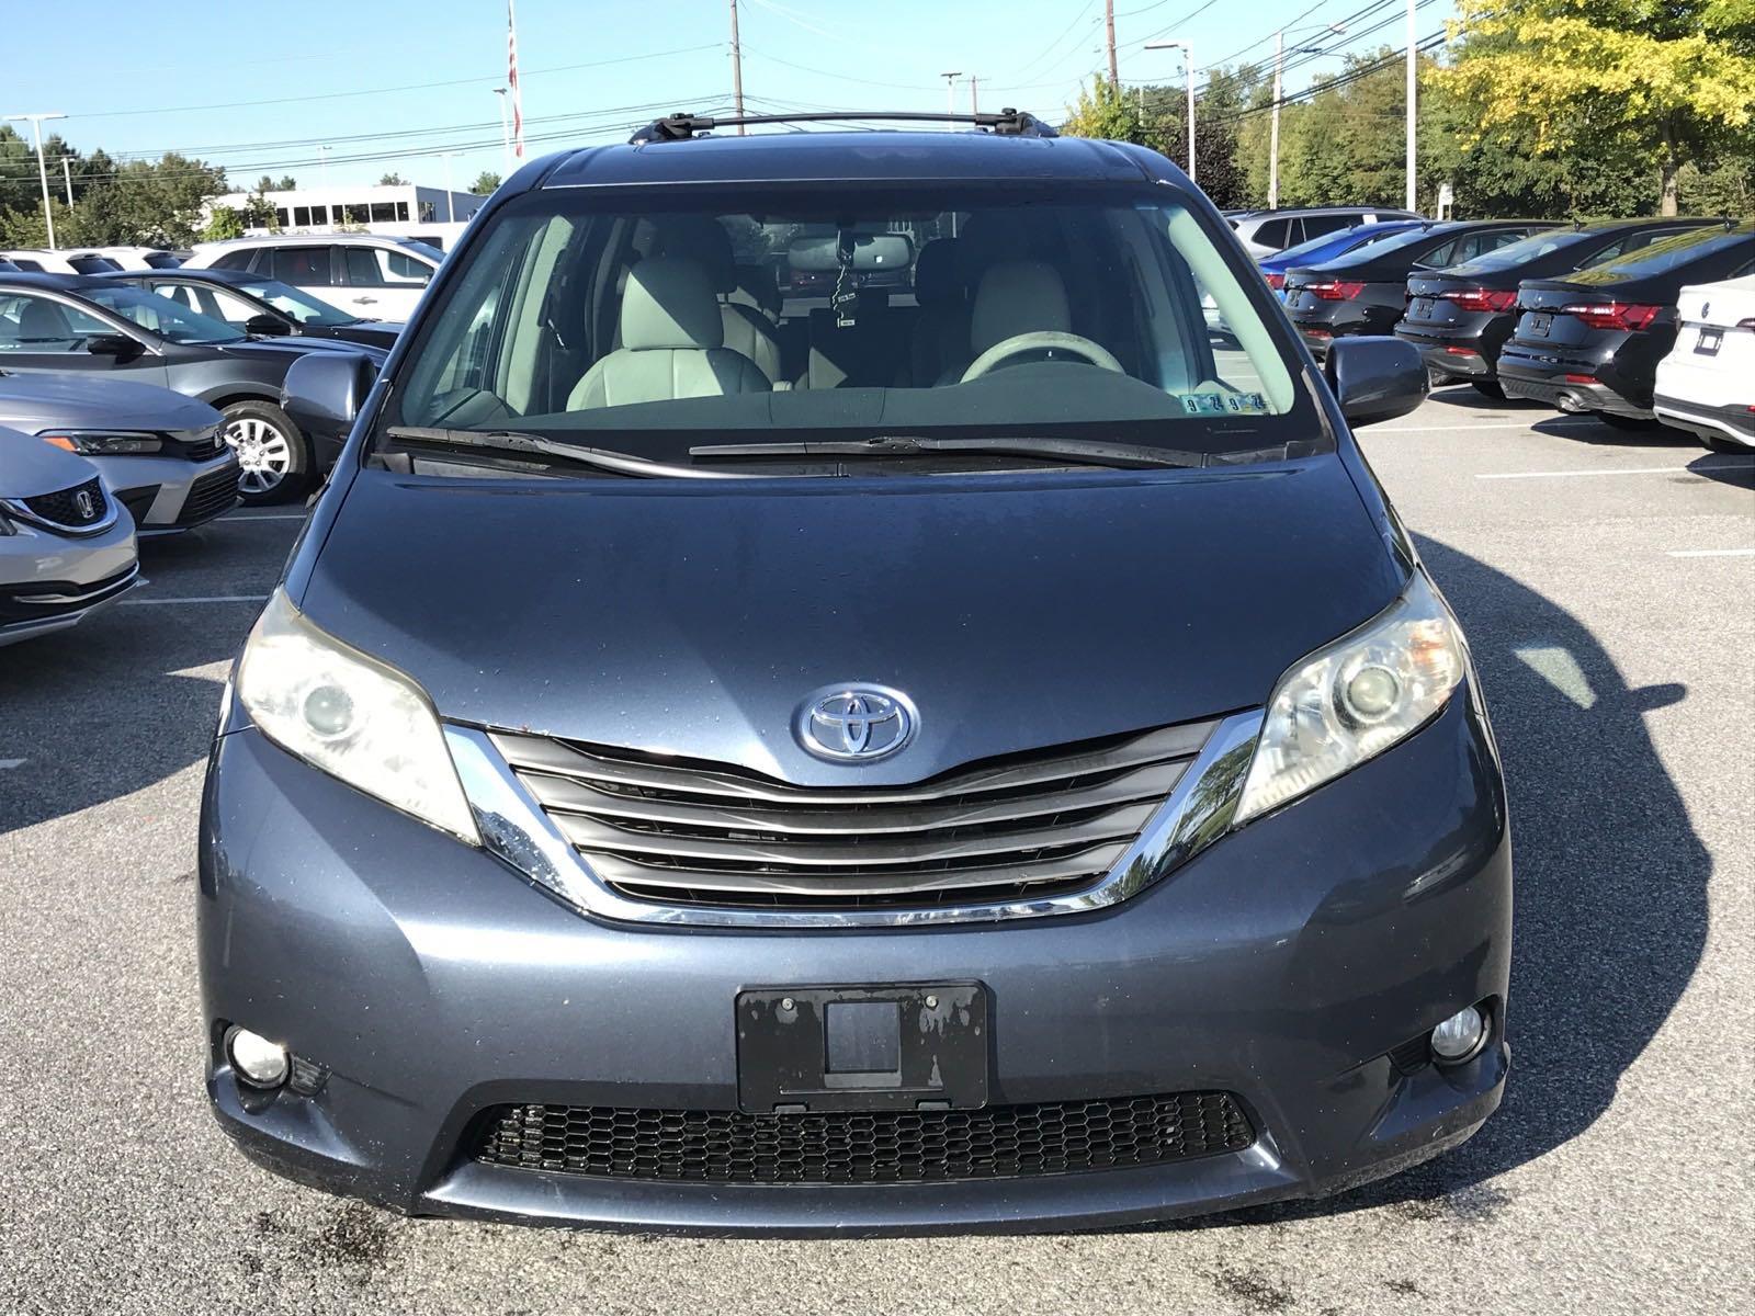
<path fill-rule="evenodd" d="M 202 811 L 207 1088 L 291 1177 L 418 1214 L 895 1234 L 1125 1225 L 1313 1197 L 1425 1160 L 1497 1107 L 1511 862 L 1472 693 L 1416 737 L 1086 916 L 846 932 L 577 914 L 281 753 L 223 735 Z M 474 1160 L 502 1104 L 735 1111 L 739 990 L 990 991 L 993 1104 L 1228 1091 L 1253 1146 L 1167 1165 L 893 1184 L 586 1177 Z M 1494 1002 L 1476 1060 L 1388 1053 Z M 328 1070 L 239 1088 L 242 1023 Z"/>

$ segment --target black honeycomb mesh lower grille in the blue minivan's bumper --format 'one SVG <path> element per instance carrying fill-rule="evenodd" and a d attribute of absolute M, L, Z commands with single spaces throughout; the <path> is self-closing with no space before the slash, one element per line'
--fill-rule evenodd
<path fill-rule="evenodd" d="M 476 1160 L 649 1183 L 883 1184 L 1118 1170 L 1253 1141 L 1225 1091 L 821 1114 L 505 1105 L 490 1112 Z"/>

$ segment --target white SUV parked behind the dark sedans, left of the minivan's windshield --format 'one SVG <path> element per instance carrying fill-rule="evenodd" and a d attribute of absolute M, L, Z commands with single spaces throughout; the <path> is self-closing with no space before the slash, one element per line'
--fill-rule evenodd
<path fill-rule="evenodd" d="M 412 237 L 295 233 L 200 242 L 188 270 L 249 270 L 290 283 L 356 316 L 405 321 L 444 261 Z"/>

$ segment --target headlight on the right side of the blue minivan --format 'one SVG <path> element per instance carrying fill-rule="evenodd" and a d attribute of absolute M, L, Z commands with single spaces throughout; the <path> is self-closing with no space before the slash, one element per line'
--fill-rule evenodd
<path fill-rule="evenodd" d="M 1457 618 L 1425 572 L 1388 609 L 1279 677 L 1236 821 L 1351 772 L 1413 735 L 1467 669 Z"/>

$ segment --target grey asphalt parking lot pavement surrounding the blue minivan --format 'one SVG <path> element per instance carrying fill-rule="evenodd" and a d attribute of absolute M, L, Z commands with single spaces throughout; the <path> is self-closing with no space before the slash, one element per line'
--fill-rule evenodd
<path fill-rule="evenodd" d="M 1162 1230 L 762 1242 L 402 1219 L 207 1116 L 219 684 L 298 528 L 0 651 L 0 1312 L 1729 1311 L 1748 1300 L 1755 456 L 1444 390 L 1365 432 L 1467 626 L 1518 862 L 1511 1088 L 1460 1151 Z"/>

